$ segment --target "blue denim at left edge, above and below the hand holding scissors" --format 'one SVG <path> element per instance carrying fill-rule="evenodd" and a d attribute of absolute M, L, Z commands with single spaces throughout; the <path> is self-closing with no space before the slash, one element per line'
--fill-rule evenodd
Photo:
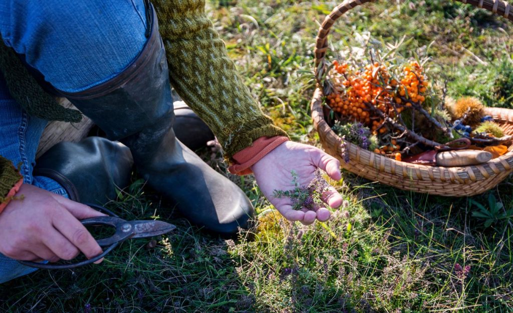
<path fill-rule="evenodd" d="M 46 120 L 29 116 L 17 105 L 0 74 L 0 155 L 11 160 L 14 165 L 19 165 L 25 183 L 67 198 L 66 190 L 53 179 L 32 176 L 37 145 L 46 124 Z M 34 270 L 0 254 L 0 283 Z"/>

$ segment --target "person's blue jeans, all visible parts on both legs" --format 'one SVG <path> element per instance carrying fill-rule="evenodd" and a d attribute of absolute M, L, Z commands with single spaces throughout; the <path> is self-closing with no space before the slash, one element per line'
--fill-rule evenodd
<path fill-rule="evenodd" d="M 121 73 L 146 43 L 143 0 L 0 1 L 0 34 L 56 89 L 78 92 Z M 0 155 L 21 164 L 25 183 L 67 197 L 54 180 L 33 176 L 47 121 L 17 105 L 0 75 Z M 0 254 L 0 283 L 33 272 Z"/>

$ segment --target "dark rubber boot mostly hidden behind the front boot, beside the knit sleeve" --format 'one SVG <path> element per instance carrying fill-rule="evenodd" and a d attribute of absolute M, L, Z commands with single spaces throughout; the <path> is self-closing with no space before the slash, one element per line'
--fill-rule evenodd
<path fill-rule="evenodd" d="M 174 101 L 173 107 L 173 130 L 176 138 L 192 151 L 207 147 L 207 142 L 214 139 L 214 134 L 207 124 L 184 101 Z"/>

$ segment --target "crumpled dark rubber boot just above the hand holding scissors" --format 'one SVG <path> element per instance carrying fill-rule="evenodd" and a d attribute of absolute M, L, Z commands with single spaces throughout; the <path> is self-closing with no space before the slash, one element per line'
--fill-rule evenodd
<path fill-rule="evenodd" d="M 54 145 L 36 160 L 34 175 L 60 183 L 71 200 L 102 205 L 116 199 L 116 189 L 128 186 L 132 165 L 125 145 L 88 137 Z"/>

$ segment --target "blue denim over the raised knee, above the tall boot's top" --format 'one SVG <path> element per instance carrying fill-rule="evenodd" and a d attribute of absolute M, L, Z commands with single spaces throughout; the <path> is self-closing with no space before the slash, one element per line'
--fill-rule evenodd
<path fill-rule="evenodd" d="M 3 0 L 0 34 L 56 89 L 78 92 L 120 73 L 146 43 L 143 0 Z"/>

